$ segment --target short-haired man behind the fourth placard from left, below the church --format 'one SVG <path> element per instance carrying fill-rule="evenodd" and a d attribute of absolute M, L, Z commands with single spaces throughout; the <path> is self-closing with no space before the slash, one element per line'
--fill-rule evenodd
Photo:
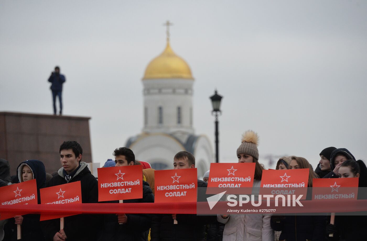
<path fill-rule="evenodd" d="M 173 158 L 174 169 L 195 168 L 195 157 L 187 151 L 178 152 Z M 206 188 L 207 183 L 197 180 L 199 188 Z M 205 193 L 205 192 L 204 192 Z M 174 219 L 178 224 L 174 224 Z M 151 241 L 204 241 L 205 225 L 215 223 L 216 216 L 197 216 L 196 214 L 157 214 L 153 216 Z"/>

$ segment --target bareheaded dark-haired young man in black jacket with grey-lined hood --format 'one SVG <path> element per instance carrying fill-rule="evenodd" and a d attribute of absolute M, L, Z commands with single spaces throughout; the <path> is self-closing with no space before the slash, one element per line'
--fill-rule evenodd
<path fill-rule="evenodd" d="M 57 186 L 80 181 L 81 202 L 98 202 L 98 182 L 91 174 L 87 163 L 81 162 L 83 149 L 76 141 L 64 141 L 60 146 L 62 167 L 58 175 L 51 178 L 47 186 Z M 64 229 L 60 230 L 60 219 L 43 221 L 46 240 L 53 241 L 89 241 L 95 240 L 98 227 L 97 215 L 73 215 L 65 217 Z"/>

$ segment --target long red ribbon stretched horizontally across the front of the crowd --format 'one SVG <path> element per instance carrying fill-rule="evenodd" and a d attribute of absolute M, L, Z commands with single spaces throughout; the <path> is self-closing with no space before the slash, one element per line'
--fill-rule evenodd
<path fill-rule="evenodd" d="M 28 213 L 28 214 L 224 214 L 227 210 L 237 207 L 229 207 L 228 202 L 218 201 L 212 210 L 208 202 L 191 202 L 191 203 L 71 203 L 65 205 L 62 209 L 58 204 L 29 204 L 29 205 L 0 205 L 0 213 Z M 302 207 L 282 206 L 279 202 L 275 206 L 275 201 L 270 201 L 270 206 L 266 201 L 262 201 L 260 206 L 254 207 L 251 202 L 244 203 L 240 207 L 238 213 L 259 214 L 259 213 L 277 213 L 291 214 L 294 213 L 327 213 L 327 212 L 360 212 L 367 211 L 367 200 L 350 200 L 350 199 L 334 199 L 334 200 L 301 200 Z M 255 210 L 255 212 L 251 210 Z M 270 210 L 269 210 L 270 209 Z M 238 214 L 236 212 L 236 214 Z M 363 213 L 361 213 L 362 215 Z M 356 220 L 359 218 L 358 213 L 348 214 L 355 215 Z"/>

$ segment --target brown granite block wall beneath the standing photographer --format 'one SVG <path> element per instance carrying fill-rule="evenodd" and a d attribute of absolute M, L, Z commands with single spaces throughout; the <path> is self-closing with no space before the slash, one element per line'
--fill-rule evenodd
<path fill-rule="evenodd" d="M 59 147 L 63 141 L 77 141 L 84 162 L 92 162 L 90 117 L 0 112 L 0 158 L 10 163 L 15 175 L 19 163 L 41 160 L 47 173 L 61 167 Z"/>

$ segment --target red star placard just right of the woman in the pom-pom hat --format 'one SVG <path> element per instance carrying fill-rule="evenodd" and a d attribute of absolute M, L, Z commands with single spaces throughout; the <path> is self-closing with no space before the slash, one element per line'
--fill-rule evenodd
<path fill-rule="evenodd" d="M 260 194 L 278 195 L 283 194 L 303 195 L 301 199 L 306 199 L 308 168 L 301 169 L 284 169 L 284 170 L 263 170 L 260 185 Z"/>

